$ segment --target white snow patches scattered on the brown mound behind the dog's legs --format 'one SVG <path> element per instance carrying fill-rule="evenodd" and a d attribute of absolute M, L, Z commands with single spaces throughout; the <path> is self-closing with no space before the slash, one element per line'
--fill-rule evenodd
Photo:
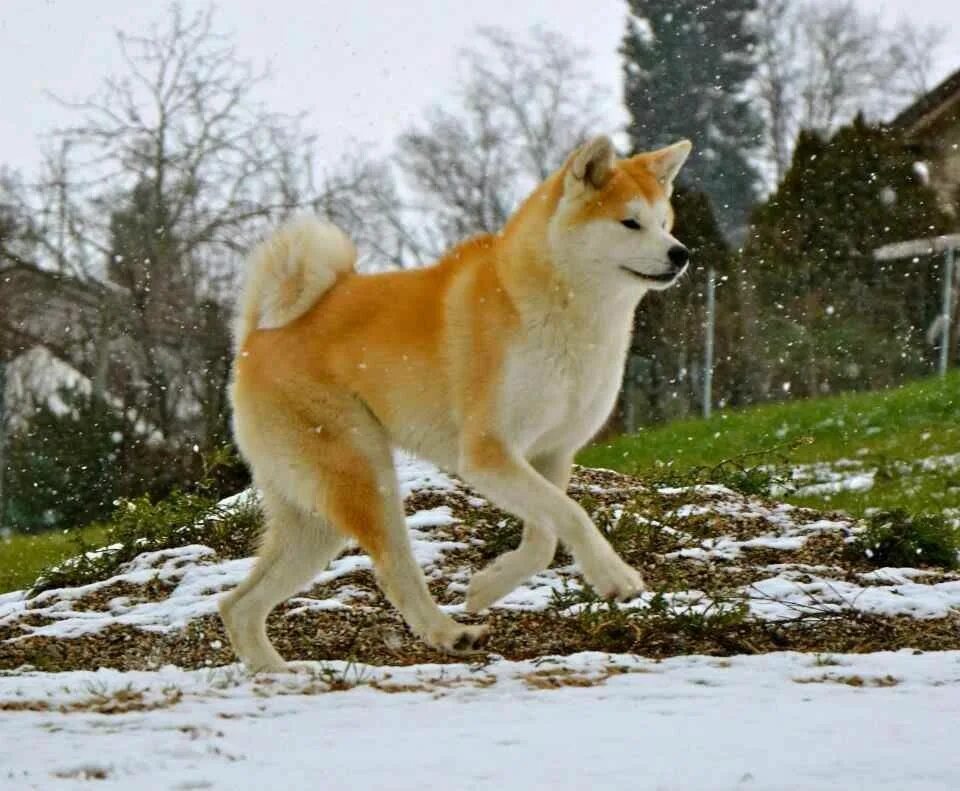
<path fill-rule="evenodd" d="M 447 497 L 459 495 L 461 505 L 483 509 L 489 504 L 471 495 L 455 479 L 436 468 L 408 456 L 398 456 L 398 471 L 405 497 L 432 492 Z M 611 474 L 612 475 L 612 474 Z M 588 494 L 614 494 L 629 500 L 629 488 L 620 492 L 616 486 L 588 484 Z M 752 579 L 727 591 L 743 602 L 754 618 L 787 620 L 798 615 L 826 612 L 863 612 L 880 616 L 912 615 L 920 618 L 942 618 L 960 611 L 960 575 L 925 572 L 918 569 L 883 568 L 869 572 L 853 572 L 841 567 L 819 566 L 809 562 L 750 564 L 748 553 L 769 550 L 791 559 L 801 553 L 812 538 L 833 537 L 849 541 L 856 531 L 855 522 L 847 518 L 820 518 L 804 509 L 787 504 L 770 504 L 747 498 L 723 486 L 705 485 L 687 488 L 663 487 L 657 490 L 664 508 L 659 519 L 639 517 L 651 530 L 669 534 L 679 546 L 662 555 L 663 564 L 671 561 L 694 562 L 703 566 L 732 571 L 750 565 Z M 229 498 L 222 506 L 238 505 L 250 495 Z M 671 508 L 672 498 L 692 498 Z M 452 500 L 451 500 L 452 502 Z M 608 507 L 611 521 L 619 524 L 625 509 Z M 462 515 L 461 515 L 462 517 Z M 464 523 L 448 505 L 415 510 L 407 517 L 414 553 L 431 580 L 446 584 L 451 596 L 462 598 L 466 591 L 470 568 L 457 559 L 471 545 L 482 543 L 481 534 L 463 535 Z M 699 519 L 696 529 L 685 529 L 691 520 Z M 703 520 L 712 520 L 719 527 L 710 535 L 702 532 Z M 460 533 L 449 532 L 459 526 Z M 726 530 L 724 530 L 726 527 Z M 78 637 L 99 632 L 111 626 L 132 627 L 148 632 L 175 632 L 190 622 L 216 614 L 222 591 L 238 584 L 249 572 L 253 559 L 223 560 L 213 550 L 201 545 L 187 545 L 156 552 L 145 552 L 126 565 L 114 577 L 77 588 L 51 590 L 33 598 L 23 593 L 0 594 L 0 626 L 24 620 L 25 634 L 36 637 Z M 349 582 L 357 572 L 370 572 L 365 555 L 346 555 L 335 560 L 315 578 L 314 586 L 334 586 L 328 598 L 300 596 L 290 601 L 292 609 L 285 617 L 302 612 L 370 607 L 369 595 Z M 344 580 L 343 584 L 338 584 Z M 116 586 L 143 586 L 160 582 L 169 586 L 162 598 L 140 599 L 129 594 L 107 597 L 91 608 L 85 599 L 109 591 Z M 544 610 L 555 602 L 562 591 L 582 587 L 576 566 L 552 568 L 536 575 L 505 597 L 500 609 Z M 627 609 L 649 606 L 654 597 L 648 592 Z M 685 609 L 710 607 L 712 600 L 702 591 L 687 589 L 667 594 L 671 603 Z M 373 607 L 380 606 L 376 603 Z M 463 611 L 462 603 L 444 605 L 451 613 Z M 578 611 L 578 606 L 571 612 Z M 42 620 L 43 622 L 39 622 Z"/>

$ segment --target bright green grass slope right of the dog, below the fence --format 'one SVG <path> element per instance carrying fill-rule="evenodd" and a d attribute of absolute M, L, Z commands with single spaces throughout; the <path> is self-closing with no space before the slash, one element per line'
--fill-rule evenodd
<path fill-rule="evenodd" d="M 758 451 L 773 453 L 764 457 Z M 784 499 L 855 514 L 869 508 L 942 514 L 960 508 L 960 474 L 913 463 L 958 452 L 960 371 L 953 371 L 880 392 L 724 410 L 710 420 L 651 427 L 589 446 L 577 461 L 657 484 L 713 477 L 746 493 L 762 493 L 771 475 L 787 469 L 777 456 L 794 464 L 854 459 L 879 468 L 873 488 Z"/>

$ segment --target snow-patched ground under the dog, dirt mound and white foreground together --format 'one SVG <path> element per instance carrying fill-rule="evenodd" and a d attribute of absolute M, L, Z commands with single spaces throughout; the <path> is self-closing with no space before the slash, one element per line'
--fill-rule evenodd
<path fill-rule="evenodd" d="M 509 525 L 427 465 L 399 472 L 417 558 L 461 613 Z M 845 554 L 853 519 L 721 486 L 578 470 L 573 491 L 653 591 L 605 609 L 561 559 L 494 608 L 476 665 L 405 633 L 356 553 L 272 623 L 288 656 L 370 664 L 284 676 L 229 664 L 216 601 L 252 561 L 210 547 L 0 596 L 0 789 L 960 789 L 960 651 L 913 649 L 960 647 L 960 575 L 872 568 Z M 583 651 L 603 641 L 634 653 Z M 129 669 L 76 669 L 102 664 Z"/>

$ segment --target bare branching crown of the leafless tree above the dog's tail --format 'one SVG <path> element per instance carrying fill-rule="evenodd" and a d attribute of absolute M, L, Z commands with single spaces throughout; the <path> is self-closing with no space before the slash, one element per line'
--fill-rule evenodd
<path fill-rule="evenodd" d="M 311 140 L 299 117 L 257 102 L 267 75 L 214 31 L 212 10 L 186 16 L 174 5 L 164 26 L 117 39 L 123 76 L 91 99 L 63 102 L 82 117 L 56 134 L 50 168 L 72 199 L 68 220 L 109 257 L 110 213 L 140 186 L 164 212 L 157 231 L 174 240 L 171 255 L 219 274 L 264 220 L 311 197 Z"/>

